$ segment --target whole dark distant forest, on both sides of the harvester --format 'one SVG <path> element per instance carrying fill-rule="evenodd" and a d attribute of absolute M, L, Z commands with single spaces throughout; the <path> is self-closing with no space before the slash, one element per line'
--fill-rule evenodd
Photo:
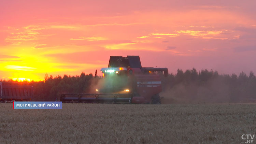
<path fill-rule="evenodd" d="M 248 76 L 244 72 L 229 75 L 193 68 L 186 71 L 178 69 L 175 74 L 168 74 L 167 77 L 159 74 L 162 81 L 160 96 L 170 103 L 256 102 L 256 77 L 253 72 Z M 63 77 L 46 74 L 44 78 L 41 82 L 19 83 L 33 86 L 33 101 L 55 101 L 60 93 L 90 92 L 90 85 L 100 79 L 84 72 L 81 75 Z"/>

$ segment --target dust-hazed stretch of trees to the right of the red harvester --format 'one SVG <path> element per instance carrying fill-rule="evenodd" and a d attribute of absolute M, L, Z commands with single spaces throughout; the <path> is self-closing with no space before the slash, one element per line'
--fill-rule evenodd
<path fill-rule="evenodd" d="M 197 71 L 195 68 L 168 77 L 161 76 L 163 95 L 177 103 L 232 103 L 256 102 L 256 77 L 254 72 L 219 74 L 213 70 Z"/>

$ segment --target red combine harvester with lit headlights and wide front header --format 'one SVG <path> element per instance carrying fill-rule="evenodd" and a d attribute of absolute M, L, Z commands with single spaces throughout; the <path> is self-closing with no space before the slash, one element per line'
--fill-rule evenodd
<path fill-rule="evenodd" d="M 142 68 L 139 56 L 110 56 L 108 68 L 100 71 L 103 78 L 93 88 L 95 93 L 63 93 L 60 101 L 161 104 L 161 80 L 155 72 L 167 76 L 167 68 Z"/>

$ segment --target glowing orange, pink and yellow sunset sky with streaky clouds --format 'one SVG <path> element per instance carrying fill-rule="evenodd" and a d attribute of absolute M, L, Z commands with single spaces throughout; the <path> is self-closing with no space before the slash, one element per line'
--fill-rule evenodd
<path fill-rule="evenodd" d="M 0 80 L 94 73 L 111 55 L 142 67 L 256 72 L 256 1 L 2 0 Z"/>

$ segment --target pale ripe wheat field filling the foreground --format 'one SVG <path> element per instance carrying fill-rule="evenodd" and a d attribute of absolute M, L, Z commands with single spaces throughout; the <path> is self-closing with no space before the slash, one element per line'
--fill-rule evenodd
<path fill-rule="evenodd" d="M 17 110 L 0 103 L 0 143 L 241 143 L 255 104 L 85 104 Z"/>

